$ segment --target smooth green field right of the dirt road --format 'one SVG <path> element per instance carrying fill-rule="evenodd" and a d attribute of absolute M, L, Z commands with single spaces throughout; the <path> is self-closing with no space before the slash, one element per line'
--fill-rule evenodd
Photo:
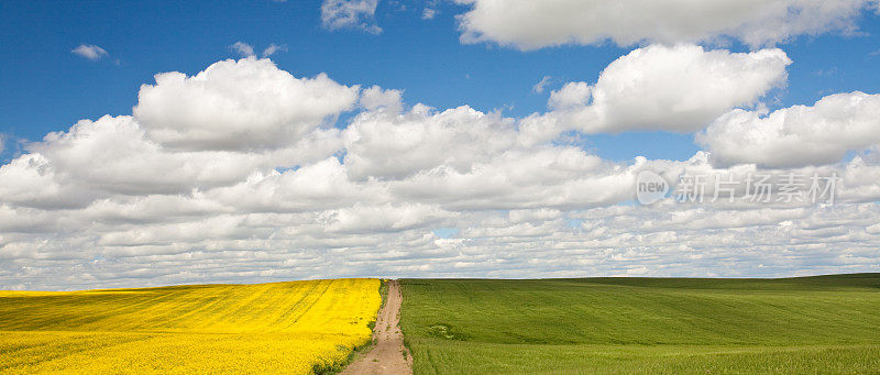
<path fill-rule="evenodd" d="M 880 373 L 880 274 L 408 279 L 416 374 Z"/>

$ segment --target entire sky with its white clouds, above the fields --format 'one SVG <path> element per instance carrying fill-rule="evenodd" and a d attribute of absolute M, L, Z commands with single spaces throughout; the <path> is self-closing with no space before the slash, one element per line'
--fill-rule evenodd
<path fill-rule="evenodd" d="M 0 2 L 0 289 L 878 269 L 880 2 L 681 3 Z"/>

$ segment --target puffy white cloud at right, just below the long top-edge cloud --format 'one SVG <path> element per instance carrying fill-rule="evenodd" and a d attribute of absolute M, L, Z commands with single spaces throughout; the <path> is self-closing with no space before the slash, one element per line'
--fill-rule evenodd
<path fill-rule="evenodd" d="M 651 45 L 612 62 L 594 85 L 569 82 L 550 95 L 551 111 L 526 121 L 536 139 L 584 133 L 693 132 L 785 84 L 791 59 L 777 48 L 751 53 Z"/>

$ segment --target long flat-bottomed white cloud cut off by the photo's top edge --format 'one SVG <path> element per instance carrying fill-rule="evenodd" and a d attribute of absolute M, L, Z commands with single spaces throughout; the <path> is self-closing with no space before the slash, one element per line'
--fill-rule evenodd
<path fill-rule="evenodd" d="M 798 35 L 853 33 L 873 0 L 458 0 L 464 43 L 520 49 L 560 44 L 737 40 L 754 47 Z"/>

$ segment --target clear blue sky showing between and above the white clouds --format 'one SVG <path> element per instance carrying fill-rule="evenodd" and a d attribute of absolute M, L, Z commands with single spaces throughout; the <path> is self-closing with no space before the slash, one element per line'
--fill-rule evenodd
<path fill-rule="evenodd" d="M 405 5 L 405 7 L 404 7 Z M 0 133 L 3 158 L 15 155 L 15 139 L 37 141 L 80 119 L 128 114 L 138 88 L 162 71 L 196 74 L 213 62 L 235 58 L 238 41 L 273 55 L 295 76 L 327 73 L 345 85 L 405 90 L 408 103 L 437 108 L 470 104 L 506 115 L 546 109 L 547 97 L 565 81 L 595 81 L 600 71 L 631 47 L 613 43 L 520 52 L 491 44 L 462 44 L 454 16 L 466 5 L 440 2 L 422 20 L 420 1 L 380 2 L 381 34 L 321 27 L 317 1 L 6 1 L 0 4 Z M 770 93 L 776 107 L 812 104 L 831 92 L 880 88 L 880 18 L 864 11 L 856 35 L 799 36 L 780 45 L 794 64 L 789 84 Z M 98 62 L 70 53 L 95 44 L 109 53 Z M 748 51 L 734 42 L 732 51 Z M 118 64 L 117 64 L 118 62 Z M 543 93 L 532 91 L 542 77 Z M 697 146 L 690 134 L 668 132 L 596 134 L 584 146 L 600 156 L 635 155 L 684 159 Z"/>

